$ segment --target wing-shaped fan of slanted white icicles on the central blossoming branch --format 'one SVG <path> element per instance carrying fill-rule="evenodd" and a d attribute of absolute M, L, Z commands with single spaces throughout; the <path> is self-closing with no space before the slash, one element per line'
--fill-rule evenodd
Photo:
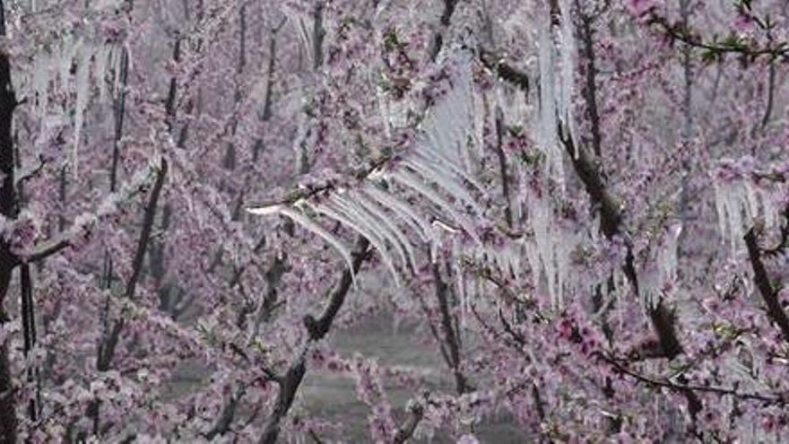
<path fill-rule="evenodd" d="M 414 241 L 407 237 L 395 220 L 415 231 L 434 252 L 438 251 L 439 239 L 443 238 L 442 231 L 455 233 L 462 229 L 481 244 L 476 232 L 476 218 L 484 210 L 475 194 L 483 187 L 473 173 L 476 167 L 471 150 L 476 120 L 471 63 L 470 56 L 461 51 L 450 57 L 447 66 L 442 68 L 447 72 L 435 74 L 433 80 L 437 84 L 432 85 L 437 90 L 435 103 L 426 110 L 421 132 L 406 151 L 394 159 L 386 159 L 383 167 L 369 171 L 355 182 L 332 186 L 327 195 L 298 199 L 312 208 L 316 216 L 333 219 L 367 238 L 377 249 L 397 285 L 400 284 L 399 270 L 417 266 L 412 248 Z M 382 95 L 378 99 L 383 118 L 389 119 L 391 110 L 387 108 L 387 98 Z M 402 102 L 398 102 L 398 106 L 406 109 L 407 101 Z M 299 131 L 306 130 L 303 125 L 300 127 Z M 300 137 L 297 140 L 301 140 Z M 387 182 L 386 187 L 379 186 L 381 179 Z M 431 204 L 429 213 L 432 214 L 423 214 L 397 196 L 395 185 L 421 196 L 422 202 Z M 294 203 L 282 205 L 287 207 Z M 249 211 L 282 213 L 278 208 L 279 205 L 270 205 Z M 299 213 L 299 217 L 311 221 L 313 216 Z M 311 229 L 321 227 L 318 222 L 311 222 Z M 395 266 L 392 254 L 399 258 L 399 266 Z"/>

